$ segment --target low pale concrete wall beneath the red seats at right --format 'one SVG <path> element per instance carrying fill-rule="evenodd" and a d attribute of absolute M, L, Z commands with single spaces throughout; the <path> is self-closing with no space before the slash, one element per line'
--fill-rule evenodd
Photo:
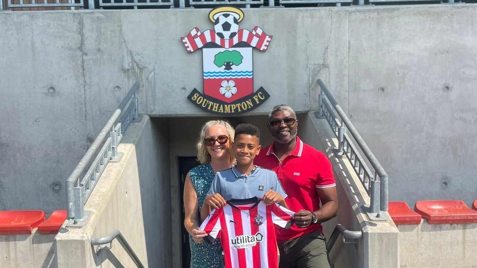
<path fill-rule="evenodd" d="M 402 268 L 477 267 L 477 224 L 399 225 Z"/>

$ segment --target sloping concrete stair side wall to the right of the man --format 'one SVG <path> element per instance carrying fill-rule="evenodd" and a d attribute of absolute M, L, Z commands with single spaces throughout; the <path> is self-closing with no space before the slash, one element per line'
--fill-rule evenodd
<path fill-rule="evenodd" d="M 370 198 L 361 181 L 353 171 L 353 165 L 346 159 L 334 157 L 332 148 L 337 147 L 337 139 L 326 119 L 317 119 L 308 113 L 304 124 L 299 124 L 299 135 L 304 142 L 325 153 L 332 162 L 338 193 L 338 216 L 323 224 L 323 232 L 330 237 L 336 224 L 348 230 L 362 231 L 363 239 L 357 245 L 343 244 L 340 236 L 330 254 L 331 263 L 336 268 L 399 268 L 399 231 L 389 214 L 387 220 L 371 221 L 366 214 Z"/>

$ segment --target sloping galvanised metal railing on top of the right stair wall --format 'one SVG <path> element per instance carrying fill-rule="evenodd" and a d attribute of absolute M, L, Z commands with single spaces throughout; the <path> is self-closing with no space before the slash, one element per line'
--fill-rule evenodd
<path fill-rule="evenodd" d="M 319 111 L 317 116 L 324 117 L 327 120 L 338 139 L 338 148 L 334 149 L 335 155 L 340 158 L 346 156 L 353 165 L 354 172 L 360 178 L 366 193 L 371 199 L 369 212 L 367 213 L 370 219 L 386 220 L 386 215 L 382 212 L 388 210 L 387 173 L 321 79 L 318 79 L 318 85 L 321 92 L 318 98 Z M 337 115 L 335 115 L 333 109 Z M 364 157 L 373 167 L 374 173 L 366 165 L 348 133 L 351 134 Z"/>

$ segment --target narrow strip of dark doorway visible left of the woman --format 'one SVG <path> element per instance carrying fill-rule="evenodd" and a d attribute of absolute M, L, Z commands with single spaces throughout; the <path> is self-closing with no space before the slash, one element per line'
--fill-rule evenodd
<path fill-rule="evenodd" d="M 197 157 L 187 156 L 179 157 L 179 182 L 180 182 L 180 206 L 181 210 L 181 237 L 182 237 L 182 268 L 190 268 L 190 247 L 189 247 L 189 233 L 184 227 L 184 183 L 186 182 L 187 172 L 193 167 L 200 165 Z"/>

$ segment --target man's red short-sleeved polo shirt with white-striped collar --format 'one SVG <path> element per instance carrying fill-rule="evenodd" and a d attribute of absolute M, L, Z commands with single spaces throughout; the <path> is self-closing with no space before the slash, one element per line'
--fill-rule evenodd
<path fill-rule="evenodd" d="M 299 137 L 297 137 L 295 149 L 282 163 L 273 153 L 273 144 L 270 144 L 255 157 L 254 164 L 277 173 L 280 183 L 288 195 L 285 201 L 291 211 L 320 209 L 320 197 L 316 188 L 336 186 L 328 157 L 310 145 L 304 144 Z M 316 229 L 323 232 L 319 223 L 311 224 L 307 228 L 299 228 L 296 225 L 292 225 L 288 230 L 279 228 L 277 240 L 281 243 L 311 233 Z"/>

